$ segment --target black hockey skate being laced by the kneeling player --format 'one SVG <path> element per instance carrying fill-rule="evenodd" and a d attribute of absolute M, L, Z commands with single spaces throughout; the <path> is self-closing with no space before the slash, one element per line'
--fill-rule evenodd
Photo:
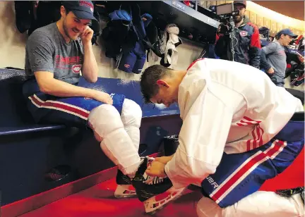
<path fill-rule="evenodd" d="M 153 214 L 157 209 L 162 209 L 168 202 L 181 196 L 184 188 L 175 189 L 169 178 L 150 177 L 145 173 L 149 161 L 153 159 L 143 158 L 135 177 L 131 180 L 140 202 L 145 206 L 145 212 Z"/>

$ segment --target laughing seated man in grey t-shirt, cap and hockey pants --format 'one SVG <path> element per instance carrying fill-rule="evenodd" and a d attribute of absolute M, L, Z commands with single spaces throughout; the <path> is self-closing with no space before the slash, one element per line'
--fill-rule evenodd
<path fill-rule="evenodd" d="M 142 110 L 124 95 L 78 86 L 80 72 L 88 82 L 97 81 L 88 27 L 95 19 L 93 5 L 63 1 L 60 10 L 61 19 L 32 32 L 26 44 L 23 94 L 28 109 L 37 123 L 92 128 L 104 153 L 119 167 L 115 196 L 136 196 L 129 187 L 143 164 L 138 155 Z"/>

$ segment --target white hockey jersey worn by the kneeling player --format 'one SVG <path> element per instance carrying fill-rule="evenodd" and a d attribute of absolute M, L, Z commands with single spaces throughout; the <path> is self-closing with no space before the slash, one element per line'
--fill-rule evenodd
<path fill-rule="evenodd" d="M 269 142 L 301 101 L 261 70 L 220 59 L 200 59 L 179 85 L 183 125 L 179 147 L 165 172 L 174 187 L 200 183 L 215 173 L 225 151 L 241 153 Z"/>

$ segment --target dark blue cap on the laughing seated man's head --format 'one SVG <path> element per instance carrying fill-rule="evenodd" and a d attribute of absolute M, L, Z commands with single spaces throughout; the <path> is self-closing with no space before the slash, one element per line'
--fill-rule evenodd
<path fill-rule="evenodd" d="M 92 1 L 62 1 L 62 5 L 72 11 L 78 19 L 96 20 L 93 16 Z"/>

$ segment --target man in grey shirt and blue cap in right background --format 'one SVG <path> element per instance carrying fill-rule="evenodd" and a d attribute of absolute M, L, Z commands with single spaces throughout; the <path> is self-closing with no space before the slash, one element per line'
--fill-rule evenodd
<path fill-rule="evenodd" d="M 285 85 L 285 72 L 287 68 L 285 46 L 288 46 L 292 39 L 297 38 L 291 30 L 284 29 L 277 32 L 275 42 L 270 42 L 261 51 L 261 68 L 265 70 L 273 83 L 279 87 Z"/>

